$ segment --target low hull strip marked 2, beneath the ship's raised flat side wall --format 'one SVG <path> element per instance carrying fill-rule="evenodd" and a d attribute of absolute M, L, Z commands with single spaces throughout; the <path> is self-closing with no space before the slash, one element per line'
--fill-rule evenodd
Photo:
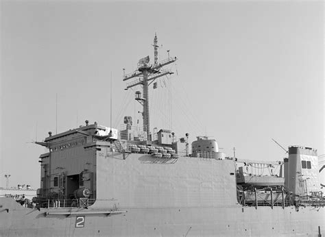
<path fill-rule="evenodd" d="M 324 208 L 125 208 L 122 214 L 46 215 L 1 198 L 1 236 L 319 236 Z M 68 210 L 68 209 L 67 209 Z M 93 209 L 86 211 L 91 212 Z M 82 210 L 79 210 L 80 212 Z M 84 216 L 84 227 L 75 227 Z M 320 229 L 320 232 L 319 232 Z"/>

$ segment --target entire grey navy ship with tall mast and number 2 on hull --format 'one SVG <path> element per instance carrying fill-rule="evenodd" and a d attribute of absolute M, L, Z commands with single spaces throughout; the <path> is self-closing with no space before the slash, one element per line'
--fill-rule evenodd
<path fill-rule="evenodd" d="M 0 236 L 322 236 L 317 150 L 290 146 L 277 162 L 239 159 L 215 139 L 150 129 L 149 86 L 177 58 L 139 60 L 123 75 L 143 106 L 143 127 L 96 122 L 36 144 L 40 188 L 28 208 L 0 197 Z M 265 172 L 261 171 L 267 171 Z"/>

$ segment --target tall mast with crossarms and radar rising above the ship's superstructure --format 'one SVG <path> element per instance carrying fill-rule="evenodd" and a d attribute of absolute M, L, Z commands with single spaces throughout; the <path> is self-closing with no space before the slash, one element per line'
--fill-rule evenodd
<path fill-rule="evenodd" d="M 136 101 L 139 101 L 141 105 L 143 105 L 143 132 L 147 133 L 147 140 L 151 139 L 150 134 L 150 120 L 149 120 L 149 85 L 154 82 L 158 77 L 163 77 L 165 75 L 173 74 L 171 71 L 164 69 L 163 66 L 167 64 L 171 64 L 176 61 L 175 58 L 168 57 L 167 60 L 163 60 L 162 62 L 158 62 L 158 39 L 155 34 L 154 37 L 154 64 L 149 64 L 149 56 L 145 58 L 141 58 L 138 62 L 138 69 L 133 73 L 128 75 L 123 75 L 123 81 L 128 79 L 132 79 L 134 77 L 139 77 L 135 79 L 133 82 L 127 84 L 125 90 L 132 88 L 134 86 L 142 85 L 143 88 L 143 97 L 141 97 L 141 92 L 136 92 Z M 123 69 L 124 71 L 124 69 Z"/>

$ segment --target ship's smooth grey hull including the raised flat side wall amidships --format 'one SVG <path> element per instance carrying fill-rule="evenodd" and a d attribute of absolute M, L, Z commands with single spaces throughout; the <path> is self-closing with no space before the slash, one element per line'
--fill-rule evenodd
<path fill-rule="evenodd" d="M 319 236 L 324 207 L 243 206 L 233 160 L 97 153 L 88 208 L 23 208 L 0 199 L 1 236 Z M 125 159 L 124 159 L 125 158 Z"/>

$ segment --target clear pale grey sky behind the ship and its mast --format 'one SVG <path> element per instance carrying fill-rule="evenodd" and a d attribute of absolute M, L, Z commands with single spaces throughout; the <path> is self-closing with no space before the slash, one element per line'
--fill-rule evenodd
<path fill-rule="evenodd" d="M 324 154 L 322 1 L 1 1 L 0 186 L 39 188 L 49 131 L 142 123 L 122 68 L 153 62 L 155 33 L 178 60 L 150 89 L 152 129 L 242 159 L 285 158 L 272 138 Z"/>

